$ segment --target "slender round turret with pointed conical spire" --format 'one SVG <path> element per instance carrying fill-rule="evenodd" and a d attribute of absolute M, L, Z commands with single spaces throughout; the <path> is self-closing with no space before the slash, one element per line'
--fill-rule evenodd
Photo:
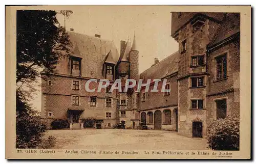
<path fill-rule="evenodd" d="M 139 80 L 139 51 L 136 47 L 135 33 L 133 38 L 133 45 L 130 51 L 130 78 Z"/>

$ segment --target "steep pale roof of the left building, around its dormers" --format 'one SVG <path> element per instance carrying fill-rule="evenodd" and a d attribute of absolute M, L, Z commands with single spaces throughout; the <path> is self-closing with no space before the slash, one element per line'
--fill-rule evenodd
<path fill-rule="evenodd" d="M 82 76 L 103 78 L 102 65 L 105 60 L 108 59 L 110 60 L 109 62 L 117 63 L 119 52 L 112 41 L 74 32 L 68 32 L 68 34 L 73 44 L 71 49 L 72 56 L 82 58 L 81 62 L 82 66 L 84 66 L 81 70 Z M 112 58 L 107 57 L 110 51 Z M 63 64 L 60 63 L 60 65 Z M 58 72 L 61 74 L 69 73 L 67 69 L 58 69 Z"/>

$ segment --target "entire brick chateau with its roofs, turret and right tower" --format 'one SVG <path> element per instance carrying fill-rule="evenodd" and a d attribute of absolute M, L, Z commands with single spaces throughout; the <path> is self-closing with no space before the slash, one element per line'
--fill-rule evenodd
<path fill-rule="evenodd" d="M 151 129 L 178 131 L 189 137 L 204 137 L 216 119 L 240 113 L 240 14 L 172 12 L 172 37 L 179 49 L 139 74 L 139 47 L 121 41 L 120 54 L 111 41 L 100 36 L 69 32 L 72 54 L 63 58 L 56 73 L 42 78 L 43 118 L 69 119 L 71 128 L 86 127 L 80 120 L 93 118 L 99 128 L 125 122 L 126 128 L 139 123 Z M 99 79 L 109 79 L 101 92 Z M 140 91 L 110 92 L 116 79 L 124 88 L 126 79 L 160 79 Z M 167 83 L 164 83 L 167 79 Z M 146 91 L 146 88 L 149 90 Z M 161 88 L 170 89 L 161 92 Z"/>

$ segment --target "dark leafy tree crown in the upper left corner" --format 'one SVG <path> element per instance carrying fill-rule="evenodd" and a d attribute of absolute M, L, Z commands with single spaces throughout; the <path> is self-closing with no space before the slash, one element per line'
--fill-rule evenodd
<path fill-rule="evenodd" d="M 16 83 L 39 76 L 39 68 L 53 72 L 58 59 L 68 55 L 72 45 L 55 11 L 17 11 Z"/>

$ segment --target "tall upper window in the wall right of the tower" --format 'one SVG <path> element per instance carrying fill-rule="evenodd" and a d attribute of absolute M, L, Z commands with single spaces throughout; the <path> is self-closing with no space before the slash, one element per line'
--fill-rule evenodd
<path fill-rule="evenodd" d="M 217 80 L 227 78 L 227 55 L 224 54 L 216 58 L 217 63 Z"/>

